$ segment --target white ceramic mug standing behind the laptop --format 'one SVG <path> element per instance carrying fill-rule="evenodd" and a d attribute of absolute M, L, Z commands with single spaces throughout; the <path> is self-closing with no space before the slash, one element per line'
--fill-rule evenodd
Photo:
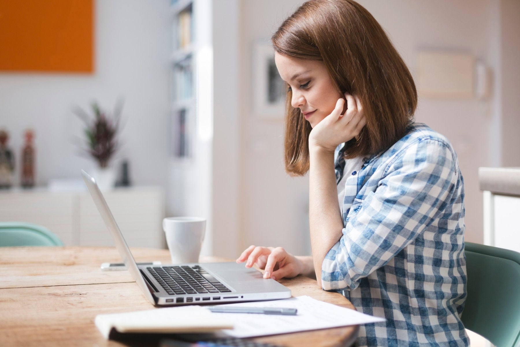
<path fill-rule="evenodd" d="M 206 230 L 206 220 L 199 217 L 167 217 L 163 219 L 166 243 L 172 264 L 198 263 Z"/>

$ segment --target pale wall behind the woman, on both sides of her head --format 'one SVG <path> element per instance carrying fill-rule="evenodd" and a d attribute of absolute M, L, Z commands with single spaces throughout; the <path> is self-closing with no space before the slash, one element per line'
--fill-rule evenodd
<path fill-rule="evenodd" d="M 503 24 L 504 5 L 508 3 L 510 19 Z M 279 24 L 302 1 L 266 0 L 246 1 L 242 5 L 241 36 L 241 230 L 242 249 L 251 244 L 283 246 L 295 253 L 308 251 L 306 177 L 290 178 L 283 170 L 282 122 L 267 122 L 255 118 L 252 95 L 252 47 L 256 41 L 268 41 Z M 518 40 L 505 57 L 500 56 L 503 41 L 518 39 L 511 33 L 518 27 L 518 3 L 507 0 L 460 0 L 452 2 L 417 2 L 393 0 L 391 2 L 361 0 L 391 37 L 392 42 L 410 67 L 417 70 L 416 54 L 419 49 L 452 49 L 472 54 L 488 65 L 493 74 L 518 70 L 518 61 L 512 59 L 517 52 Z M 516 27 L 515 27 L 516 25 Z M 509 34 L 503 33 L 503 30 Z M 509 36 L 508 36 L 509 35 Z M 511 37 L 510 37 L 511 36 Z M 502 40 L 502 44 L 497 41 Z M 516 55 L 518 57 L 518 55 Z M 500 70 L 499 63 L 508 59 L 507 68 Z M 517 75 L 515 75 L 517 76 Z M 518 78 L 516 81 L 518 81 Z M 251 81 L 251 82 L 250 82 Z M 508 82 L 508 88 L 518 88 L 518 82 Z M 514 89 L 517 91 L 517 89 Z M 511 132 L 508 143 L 502 144 L 500 90 L 495 85 L 493 97 L 488 100 L 419 99 L 416 120 L 430 125 L 446 135 L 458 153 L 465 182 L 466 241 L 482 242 L 482 192 L 478 189 L 479 166 L 520 164 L 520 159 L 506 160 L 498 152 L 510 148 L 518 153 L 518 117 L 510 112 Z M 515 95 L 518 95 L 516 92 Z M 500 99 L 499 99 L 500 100 Z M 516 105 L 518 98 L 511 100 Z M 510 109 L 514 107 L 509 106 Z M 497 145 L 498 143 L 498 145 Z M 518 156 L 517 156 L 518 157 Z"/>

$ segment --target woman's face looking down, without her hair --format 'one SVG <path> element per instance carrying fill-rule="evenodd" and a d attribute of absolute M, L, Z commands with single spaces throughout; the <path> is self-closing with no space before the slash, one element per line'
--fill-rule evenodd
<path fill-rule="evenodd" d="M 327 117 L 343 97 L 336 91 L 323 61 L 297 59 L 275 53 L 275 63 L 282 80 L 292 90 L 291 105 L 299 108 L 310 126 Z"/>

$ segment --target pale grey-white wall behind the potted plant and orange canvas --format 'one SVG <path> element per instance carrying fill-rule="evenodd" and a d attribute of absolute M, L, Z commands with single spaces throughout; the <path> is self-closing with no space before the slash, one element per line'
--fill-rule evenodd
<path fill-rule="evenodd" d="M 93 161 L 77 155 L 74 137 L 83 123 L 72 107 L 86 109 L 93 100 L 112 110 L 123 108 L 122 149 L 135 184 L 166 182 L 169 1 L 95 2 L 93 74 L 0 73 L 0 127 L 11 134 L 17 154 L 18 182 L 23 131 L 35 130 L 37 184 L 51 178 L 80 178 Z M 118 160 L 116 160 L 117 162 Z"/>

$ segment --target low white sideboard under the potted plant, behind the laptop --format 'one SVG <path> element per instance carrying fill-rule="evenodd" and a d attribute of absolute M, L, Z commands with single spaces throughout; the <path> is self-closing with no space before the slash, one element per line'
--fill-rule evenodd
<path fill-rule="evenodd" d="M 116 188 L 103 193 L 128 246 L 164 248 L 164 192 L 160 187 Z M 113 246 L 87 191 L 0 191 L 0 222 L 45 226 L 67 246 Z"/>

